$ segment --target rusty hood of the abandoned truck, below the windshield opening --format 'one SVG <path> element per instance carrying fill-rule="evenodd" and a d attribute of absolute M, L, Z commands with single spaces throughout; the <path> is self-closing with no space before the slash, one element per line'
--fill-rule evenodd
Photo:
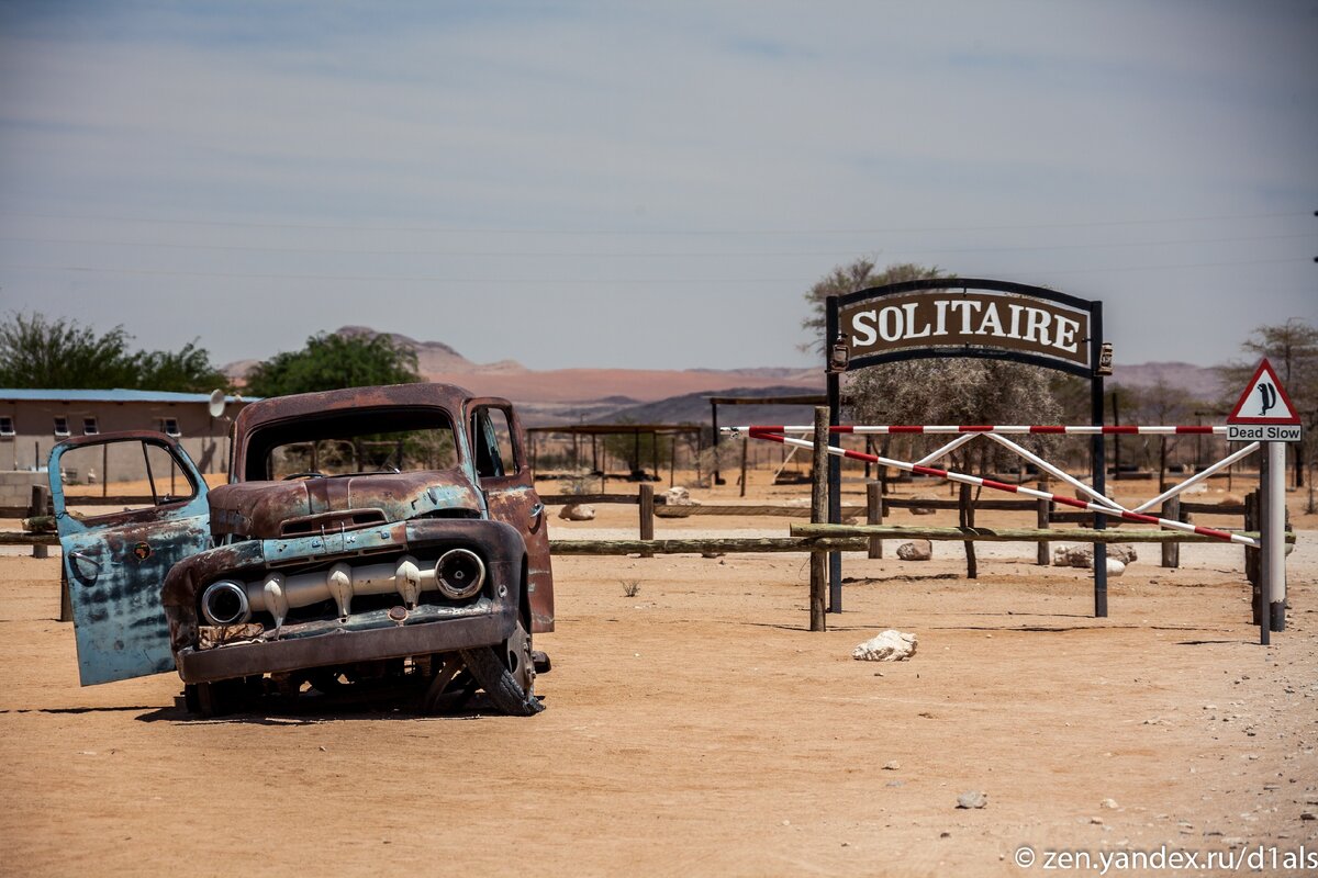
<path fill-rule="evenodd" d="M 211 488 L 208 498 L 217 540 L 298 537 L 435 513 L 482 517 L 480 494 L 459 470 L 239 482 Z"/>

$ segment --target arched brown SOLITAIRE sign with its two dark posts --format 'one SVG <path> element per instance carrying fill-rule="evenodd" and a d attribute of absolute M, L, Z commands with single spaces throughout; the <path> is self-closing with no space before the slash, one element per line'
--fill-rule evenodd
<path fill-rule="evenodd" d="M 1103 375 L 1112 349 L 1103 342 L 1103 303 L 1007 280 L 927 278 L 871 287 L 825 303 L 830 423 L 841 415 L 841 374 L 851 369 L 931 357 L 1007 359 L 1079 375 L 1090 382 L 1091 423 L 1103 424 Z M 1104 490 L 1103 437 L 1093 437 L 1093 486 Z M 829 457 L 829 521 L 841 521 L 841 469 Z M 1094 516 L 1104 528 L 1106 517 Z M 1106 545 L 1094 545 L 1094 615 L 1107 615 Z M 830 554 L 829 598 L 842 607 L 842 562 Z"/>

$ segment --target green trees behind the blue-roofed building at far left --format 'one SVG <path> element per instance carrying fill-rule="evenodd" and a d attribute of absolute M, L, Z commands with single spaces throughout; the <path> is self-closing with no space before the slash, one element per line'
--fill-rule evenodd
<path fill-rule="evenodd" d="M 227 387 L 196 341 L 181 351 L 129 349 L 123 326 L 101 334 L 63 317 L 14 313 L 0 324 L 0 386 L 61 390 L 113 387 L 204 392 Z"/>

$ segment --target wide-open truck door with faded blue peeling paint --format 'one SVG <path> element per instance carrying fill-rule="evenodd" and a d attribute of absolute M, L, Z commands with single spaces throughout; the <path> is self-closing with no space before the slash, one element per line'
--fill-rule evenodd
<path fill-rule="evenodd" d="M 82 436 L 51 450 L 50 495 L 82 684 L 171 670 L 165 574 L 211 546 L 206 482 L 196 466 L 161 433 Z M 100 508 L 72 512 L 80 496 Z M 117 499 L 115 512 L 103 511 L 103 496 Z"/>

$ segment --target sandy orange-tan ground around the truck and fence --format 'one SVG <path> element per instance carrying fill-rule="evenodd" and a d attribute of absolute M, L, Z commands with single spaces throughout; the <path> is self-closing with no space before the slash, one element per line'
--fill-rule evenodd
<path fill-rule="evenodd" d="M 890 544 L 846 557 L 826 633 L 808 631 L 804 555 L 560 557 L 532 719 L 377 704 L 202 721 L 173 674 L 79 688 L 58 559 L 9 550 L 0 874 L 1023 875 L 1056 850 L 1099 874 L 1104 852 L 1160 849 L 1198 867 L 1108 874 L 1223 874 L 1210 852 L 1259 845 L 1284 865 L 1318 850 L 1302 817 L 1318 815 L 1318 523 L 1294 517 L 1269 648 L 1231 546 L 1186 546 L 1178 570 L 1141 546 L 1094 619 L 1087 571 L 1035 566 L 1032 545 L 982 548 L 971 582 L 956 544 L 924 563 Z M 554 536 L 634 521 L 602 508 Z M 660 520 L 658 536 L 787 524 Z M 851 659 L 886 628 L 919 636 L 911 661 Z M 987 806 L 958 810 L 966 791 Z"/>

